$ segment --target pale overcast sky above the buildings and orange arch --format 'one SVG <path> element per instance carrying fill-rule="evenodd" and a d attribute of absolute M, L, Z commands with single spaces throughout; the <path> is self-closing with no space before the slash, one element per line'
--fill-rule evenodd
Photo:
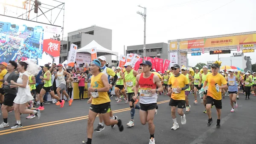
<path fill-rule="evenodd" d="M 256 31 L 256 9 L 254 8 L 256 0 L 59 1 L 65 3 L 64 37 L 68 32 L 92 25 L 112 29 L 112 50 L 119 52 L 119 55 L 123 54 L 124 45 L 126 47 L 143 44 L 144 22 L 137 14 L 137 11 L 143 12 L 143 9 L 138 5 L 147 8 L 146 43 L 168 43 L 168 40 L 175 39 Z M 53 0 L 41 0 L 41 2 L 53 6 L 59 5 Z M 42 8 L 42 10 L 47 9 Z M 22 10 L 9 8 L 7 12 L 17 16 L 16 13 L 20 14 Z M 58 13 L 58 9 L 52 10 L 52 22 Z M 3 12 L 0 11 L 0 14 Z M 50 12 L 46 13 L 47 17 L 50 15 Z M 35 17 L 35 14 L 32 12 L 30 17 Z M 48 23 L 44 15 L 38 17 L 38 21 Z M 62 26 L 63 11 L 54 24 Z M 236 51 L 219 55 L 219 57 L 230 57 L 233 52 Z M 253 57 L 255 54 L 256 52 L 245 55 L 252 58 L 252 63 L 256 63 L 256 57 Z M 205 53 L 201 56 L 191 56 L 188 54 L 188 58 L 189 66 L 195 66 L 199 62 L 207 63 L 207 61 L 217 60 L 218 55 Z"/>

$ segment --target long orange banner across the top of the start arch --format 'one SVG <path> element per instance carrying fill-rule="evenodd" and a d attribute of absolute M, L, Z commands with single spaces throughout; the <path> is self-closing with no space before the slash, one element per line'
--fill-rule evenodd
<path fill-rule="evenodd" d="M 184 40 L 184 41 L 180 41 L 180 49 L 236 46 L 236 45 L 243 45 L 243 44 L 256 44 L 256 34 L 234 35 L 234 36 L 227 36 L 227 37 L 214 37 L 214 38 L 205 38 L 205 39 L 196 39 L 196 40 Z"/>

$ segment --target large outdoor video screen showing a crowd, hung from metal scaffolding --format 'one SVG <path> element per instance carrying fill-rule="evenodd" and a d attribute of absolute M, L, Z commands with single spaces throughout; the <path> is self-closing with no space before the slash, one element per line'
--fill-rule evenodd
<path fill-rule="evenodd" d="M 0 62 L 38 60 L 58 62 L 61 27 L 0 15 Z"/>

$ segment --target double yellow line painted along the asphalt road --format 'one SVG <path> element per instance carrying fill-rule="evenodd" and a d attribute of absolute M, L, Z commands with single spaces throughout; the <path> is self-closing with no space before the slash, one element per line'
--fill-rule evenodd
<path fill-rule="evenodd" d="M 166 103 L 166 102 L 169 102 L 169 101 L 170 100 L 160 101 L 157 104 L 163 104 L 163 103 Z M 128 110 L 130 110 L 130 108 L 118 109 L 118 110 L 113 110 L 113 113 L 125 112 L 125 111 L 128 111 Z M 84 120 L 84 119 L 87 119 L 87 118 L 88 118 L 88 115 L 81 116 L 81 117 L 76 117 L 76 118 L 69 118 L 69 119 L 59 120 L 59 121 L 51 121 L 51 122 L 42 123 L 42 124 L 29 125 L 29 126 L 19 128 L 17 130 L 13 130 L 13 129 L 1 130 L 0 135 L 6 135 L 6 134 L 14 133 L 14 132 L 37 129 L 37 128 L 40 128 L 40 127 L 48 127 L 48 126 L 57 125 L 57 124 L 64 124 L 64 123 L 68 123 L 68 122 L 72 122 L 72 121 L 80 121 L 80 120 Z"/>

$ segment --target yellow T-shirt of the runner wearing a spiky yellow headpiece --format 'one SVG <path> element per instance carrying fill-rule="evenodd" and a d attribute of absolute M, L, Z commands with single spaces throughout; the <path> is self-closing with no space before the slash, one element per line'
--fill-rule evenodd
<path fill-rule="evenodd" d="M 215 100 L 221 100 L 221 91 L 217 92 L 215 88 L 215 84 L 218 84 L 221 86 L 221 84 L 225 85 L 227 84 L 226 79 L 224 78 L 223 75 L 217 74 L 213 76 L 212 74 L 207 75 L 206 80 L 208 82 L 208 90 L 207 90 L 207 95 L 212 97 Z"/>

